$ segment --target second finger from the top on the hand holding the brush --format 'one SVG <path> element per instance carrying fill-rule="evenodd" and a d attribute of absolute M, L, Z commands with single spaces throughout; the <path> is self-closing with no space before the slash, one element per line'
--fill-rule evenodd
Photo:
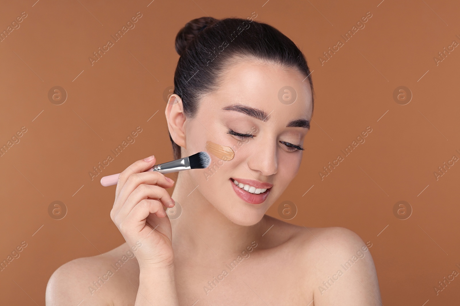
<path fill-rule="evenodd" d="M 171 183 L 168 179 L 169 178 L 167 178 L 164 174 L 156 171 L 131 174 L 127 179 L 125 185 L 121 188 L 118 198 L 114 202 L 113 210 L 115 211 L 115 213 L 121 210 L 121 208 L 125 205 L 128 197 L 136 188 L 138 188 L 139 185 L 147 184 L 150 186 L 157 185 L 162 188 L 170 188 L 173 186 L 173 183 Z M 151 198 L 156 199 L 156 197 Z"/>

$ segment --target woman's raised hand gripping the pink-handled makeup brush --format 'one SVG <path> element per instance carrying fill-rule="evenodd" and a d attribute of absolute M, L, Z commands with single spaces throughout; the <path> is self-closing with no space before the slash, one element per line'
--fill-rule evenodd
<path fill-rule="evenodd" d="M 174 261 L 171 222 L 164 208 L 175 205 L 165 189 L 174 181 L 160 172 L 144 172 L 153 165 L 155 157 L 150 156 L 120 173 L 110 211 L 141 270 L 171 268 Z"/>

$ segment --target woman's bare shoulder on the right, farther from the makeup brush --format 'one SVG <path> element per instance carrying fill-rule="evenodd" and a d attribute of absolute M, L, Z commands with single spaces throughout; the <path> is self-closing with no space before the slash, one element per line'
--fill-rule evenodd
<path fill-rule="evenodd" d="M 310 228 L 271 217 L 266 220 L 276 227 L 272 237 L 282 241 L 278 247 L 289 254 L 290 265 L 305 275 L 303 288 L 313 294 L 312 305 L 381 305 L 370 241 L 364 242 L 347 228 Z"/>

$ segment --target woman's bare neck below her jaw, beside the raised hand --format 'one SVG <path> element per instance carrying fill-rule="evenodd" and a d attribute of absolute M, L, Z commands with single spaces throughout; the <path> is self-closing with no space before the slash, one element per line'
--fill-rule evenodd
<path fill-rule="evenodd" d="M 230 257 L 260 242 L 265 218 L 252 226 L 233 223 L 201 195 L 189 173 L 178 174 L 172 197 L 182 213 L 171 220 L 174 254 Z"/>

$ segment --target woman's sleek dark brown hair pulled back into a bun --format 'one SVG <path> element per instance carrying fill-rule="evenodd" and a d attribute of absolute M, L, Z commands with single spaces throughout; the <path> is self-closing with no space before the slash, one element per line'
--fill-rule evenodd
<path fill-rule="evenodd" d="M 242 59 L 296 69 L 308 78 L 313 94 L 311 72 L 297 45 L 269 24 L 247 19 L 201 17 L 187 22 L 178 32 L 176 51 L 180 57 L 173 93 L 181 97 L 185 117 L 196 115 L 200 97 L 217 89 L 222 72 Z M 180 158 L 180 146 L 171 134 L 169 139 L 174 159 Z"/>

